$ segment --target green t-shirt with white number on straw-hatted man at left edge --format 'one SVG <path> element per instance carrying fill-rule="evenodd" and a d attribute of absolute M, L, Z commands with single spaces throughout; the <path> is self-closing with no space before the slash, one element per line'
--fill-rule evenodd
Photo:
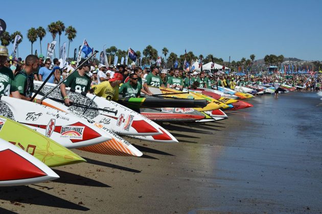
<path fill-rule="evenodd" d="M 0 68 L 0 95 L 9 96 L 13 91 L 18 91 L 14 85 L 14 75 L 9 68 L 3 66 Z"/>

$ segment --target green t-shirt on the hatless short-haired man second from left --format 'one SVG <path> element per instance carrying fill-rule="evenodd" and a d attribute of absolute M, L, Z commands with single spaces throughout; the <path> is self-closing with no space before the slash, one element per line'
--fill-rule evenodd
<path fill-rule="evenodd" d="M 34 91 L 34 76 L 33 74 L 27 75 L 25 70 L 20 71 L 14 78 L 14 84 L 18 88 L 20 94 L 31 97 Z"/>

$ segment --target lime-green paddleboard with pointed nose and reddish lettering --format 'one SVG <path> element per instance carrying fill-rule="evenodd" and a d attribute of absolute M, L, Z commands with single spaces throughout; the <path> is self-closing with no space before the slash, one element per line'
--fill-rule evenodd
<path fill-rule="evenodd" d="M 0 138 L 28 152 L 49 167 L 86 162 L 50 138 L 3 116 L 0 116 Z"/>

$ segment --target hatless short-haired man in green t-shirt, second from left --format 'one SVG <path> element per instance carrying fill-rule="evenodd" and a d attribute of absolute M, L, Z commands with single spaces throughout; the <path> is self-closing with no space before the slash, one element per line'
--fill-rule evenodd
<path fill-rule="evenodd" d="M 39 59 L 35 55 L 28 55 L 24 70 L 19 71 L 14 79 L 14 84 L 18 88 L 21 99 L 31 101 L 34 90 L 34 72 L 39 67 Z M 40 99 L 34 99 L 33 102 L 41 104 Z"/>

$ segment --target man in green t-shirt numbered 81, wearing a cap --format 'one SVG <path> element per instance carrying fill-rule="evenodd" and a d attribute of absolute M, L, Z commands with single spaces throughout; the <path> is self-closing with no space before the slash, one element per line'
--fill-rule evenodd
<path fill-rule="evenodd" d="M 79 64 L 82 64 L 85 60 L 81 60 Z M 86 74 L 90 70 L 90 64 L 85 62 L 83 66 L 79 67 L 76 71 L 68 75 L 65 81 L 60 85 L 60 92 L 63 96 L 65 105 L 70 105 L 70 99 L 66 94 L 66 87 L 70 87 L 75 90 L 83 92 L 89 92 L 90 90 L 90 77 Z"/>

